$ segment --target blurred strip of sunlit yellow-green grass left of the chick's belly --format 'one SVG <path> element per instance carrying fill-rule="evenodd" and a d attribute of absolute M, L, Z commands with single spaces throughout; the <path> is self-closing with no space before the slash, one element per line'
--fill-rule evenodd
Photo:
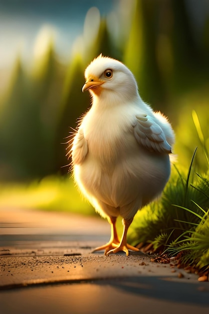
<path fill-rule="evenodd" d="M 47 177 L 40 182 L 0 184 L 0 207 L 69 211 L 90 215 L 95 211 L 67 177 Z"/>

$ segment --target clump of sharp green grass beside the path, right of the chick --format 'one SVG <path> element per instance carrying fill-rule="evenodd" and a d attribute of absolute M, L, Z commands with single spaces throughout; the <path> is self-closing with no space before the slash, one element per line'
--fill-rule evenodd
<path fill-rule="evenodd" d="M 129 242 L 152 243 L 158 252 L 176 256 L 182 265 L 209 269 L 209 177 L 175 166 L 159 200 L 139 211 L 131 225 Z"/>

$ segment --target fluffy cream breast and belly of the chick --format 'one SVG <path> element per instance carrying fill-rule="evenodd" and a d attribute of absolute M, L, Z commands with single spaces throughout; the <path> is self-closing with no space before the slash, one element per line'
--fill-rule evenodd
<path fill-rule="evenodd" d="M 78 185 L 87 198 L 114 208 L 130 204 L 132 216 L 160 194 L 170 174 L 168 155 L 149 152 L 136 141 L 134 116 L 123 116 L 120 111 L 115 115 L 103 113 L 98 118 L 90 110 L 81 124 L 88 154 L 75 167 Z"/>

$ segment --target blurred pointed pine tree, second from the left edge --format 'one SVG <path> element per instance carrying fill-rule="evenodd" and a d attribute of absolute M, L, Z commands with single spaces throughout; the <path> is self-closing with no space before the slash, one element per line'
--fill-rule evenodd
<path fill-rule="evenodd" d="M 33 71 L 33 100 L 39 107 L 43 142 L 40 167 L 44 176 L 60 171 L 56 165 L 57 149 L 60 148 L 56 146 L 56 127 L 65 73 L 65 67 L 56 58 L 51 39 L 41 62 L 38 60 L 38 69 L 35 67 Z"/>

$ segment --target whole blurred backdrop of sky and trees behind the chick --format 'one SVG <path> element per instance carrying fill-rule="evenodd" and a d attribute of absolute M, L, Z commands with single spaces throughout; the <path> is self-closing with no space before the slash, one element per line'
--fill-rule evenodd
<path fill-rule="evenodd" d="M 100 53 L 124 62 L 143 100 L 168 116 L 178 165 L 197 146 L 195 167 L 207 171 L 207 0 L 1 0 L 0 39 L 2 191 L 69 177 L 68 136 L 90 105 L 84 70 Z"/>

